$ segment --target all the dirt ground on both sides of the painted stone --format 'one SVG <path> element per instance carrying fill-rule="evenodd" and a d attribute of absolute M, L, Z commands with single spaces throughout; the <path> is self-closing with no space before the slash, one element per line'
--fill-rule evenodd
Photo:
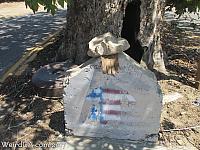
<path fill-rule="evenodd" d="M 200 149 L 200 107 L 192 103 L 200 97 L 200 92 L 194 88 L 200 35 L 168 24 L 164 24 L 162 35 L 169 75 L 156 72 L 158 82 L 164 95 L 178 92 L 183 98 L 163 106 L 159 143 Z M 23 75 L 11 76 L 0 85 L 1 141 L 31 141 L 36 144 L 63 137 L 62 100 L 39 97 L 31 83 L 37 69 L 56 61 L 55 50 L 61 45 L 62 37 L 58 36 L 53 44 L 41 51 Z"/>

